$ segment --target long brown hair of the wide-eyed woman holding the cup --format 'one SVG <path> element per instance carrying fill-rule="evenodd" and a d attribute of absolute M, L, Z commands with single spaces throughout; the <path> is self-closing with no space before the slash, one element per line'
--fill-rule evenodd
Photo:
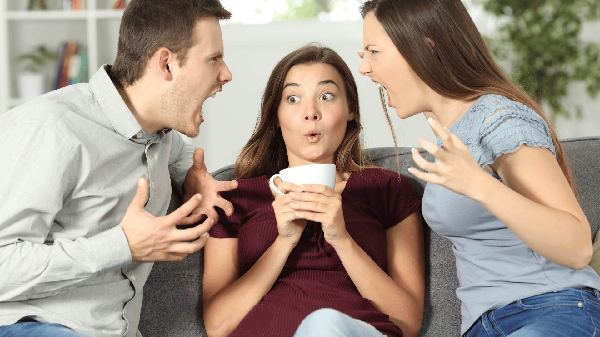
<path fill-rule="evenodd" d="M 355 117 L 353 121 L 348 122 L 344 139 L 335 152 L 334 161 L 338 172 L 355 172 L 374 167 L 373 163 L 365 158 L 362 147 L 358 89 L 352 72 L 334 50 L 308 44 L 289 53 L 275 65 L 266 84 L 254 133 L 235 162 L 236 179 L 272 176 L 289 166 L 286 143 L 283 141 L 281 129 L 277 127 L 277 110 L 283 95 L 284 80 L 293 66 L 315 63 L 331 65 L 340 73 L 346 89 L 348 107 Z"/>

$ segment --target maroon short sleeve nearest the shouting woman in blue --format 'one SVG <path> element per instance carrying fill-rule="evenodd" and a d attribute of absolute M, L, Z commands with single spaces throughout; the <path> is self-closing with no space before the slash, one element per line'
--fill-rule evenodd
<path fill-rule="evenodd" d="M 388 176 L 387 185 L 383 186 L 385 191 L 382 195 L 387 196 L 384 212 L 386 216 L 383 224 L 387 230 L 418 210 L 421 207 L 421 197 L 415 192 L 406 177 L 392 171 L 386 171 L 386 175 Z"/>

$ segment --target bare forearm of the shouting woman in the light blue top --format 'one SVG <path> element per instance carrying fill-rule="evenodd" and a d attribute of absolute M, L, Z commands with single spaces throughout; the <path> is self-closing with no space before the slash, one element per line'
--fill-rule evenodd
<path fill-rule="evenodd" d="M 582 269 L 592 257 L 587 219 L 536 203 L 489 176 L 473 200 L 510 228 L 527 246 L 554 263 Z"/>

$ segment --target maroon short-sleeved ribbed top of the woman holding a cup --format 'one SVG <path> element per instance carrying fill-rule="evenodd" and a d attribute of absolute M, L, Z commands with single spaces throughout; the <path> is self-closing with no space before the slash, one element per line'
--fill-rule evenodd
<path fill-rule="evenodd" d="M 237 189 L 221 192 L 233 204 L 233 215 L 220 212 L 209 233 L 217 239 L 238 238 L 244 274 L 272 245 L 278 231 L 266 177 L 238 182 Z M 421 198 L 406 177 L 398 181 L 398 173 L 382 169 L 351 174 L 341 195 L 348 233 L 386 270 L 385 230 L 418 209 Z M 302 319 L 320 308 L 344 312 L 387 336 L 402 336 L 388 315 L 361 296 L 335 249 L 325 241 L 320 224 L 309 221 L 271 290 L 230 336 L 292 336 Z"/>

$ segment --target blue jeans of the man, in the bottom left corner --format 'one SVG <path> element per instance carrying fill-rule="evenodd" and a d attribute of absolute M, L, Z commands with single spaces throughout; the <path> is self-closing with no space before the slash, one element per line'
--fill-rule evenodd
<path fill-rule="evenodd" d="M 56 323 L 25 321 L 0 326 L 0 337 L 90 337 Z"/>

